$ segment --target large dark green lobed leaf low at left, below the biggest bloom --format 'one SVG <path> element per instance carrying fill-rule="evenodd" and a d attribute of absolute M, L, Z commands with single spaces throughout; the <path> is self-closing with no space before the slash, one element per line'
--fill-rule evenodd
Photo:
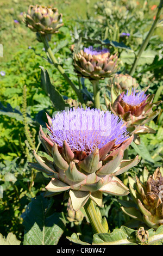
<path fill-rule="evenodd" d="M 23 245 L 57 245 L 65 229 L 61 213 L 48 216 L 53 199 L 48 200 L 41 194 L 32 199 L 22 214 L 24 225 Z"/>

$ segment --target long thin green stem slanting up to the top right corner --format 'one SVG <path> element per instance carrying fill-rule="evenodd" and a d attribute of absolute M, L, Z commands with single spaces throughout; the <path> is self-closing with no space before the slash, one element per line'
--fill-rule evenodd
<path fill-rule="evenodd" d="M 155 20 L 154 20 L 153 25 L 152 25 L 151 29 L 149 30 L 149 32 L 148 32 L 146 38 L 145 38 L 145 40 L 142 42 L 142 45 L 141 45 L 141 47 L 140 47 L 140 50 L 139 50 L 137 56 L 135 57 L 133 66 L 132 66 L 132 68 L 131 68 L 131 70 L 130 70 L 130 72 L 129 72 L 129 75 L 130 75 L 130 76 L 133 76 L 133 75 L 134 75 L 134 72 L 135 72 L 137 63 L 139 62 L 139 59 L 140 59 L 140 57 L 141 57 L 141 54 L 142 54 L 142 52 L 145 50 L 145 48 L 147 47 L 148 42 L 149 42 L 149 39 L 151 38 L 151 36 L 152 36 L 152 34 L 153 34 L 153 32 L 154 32 L 154 29 L 155 29 L 155 27 L 156 27 L 156 24 L 158 23 L 158 20 L 159 20 L 159 18 L 160 18 L 160 13 L 161 13 L 162 5 L 163 5 L 163 0 L 160 0 L 160 4 L 159 4 L 159 6 L 158 6 L 158 12 L 157 12 L 157 14 L 156 14 Z"/>

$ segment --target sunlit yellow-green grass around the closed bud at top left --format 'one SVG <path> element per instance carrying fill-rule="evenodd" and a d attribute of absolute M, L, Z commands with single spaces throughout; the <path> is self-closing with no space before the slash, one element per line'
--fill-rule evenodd
<path fill-rule="evenodd" d="M 93 7 L 93 4 L 97 0 L 91 0 L 89 8 Z M 41 4 L 41 5 L 53 5 L 57 7 L 59 12 L 63 14 L 63 21 L 71 22 L 77 16 L 86 17 L 86 10 L 88 5 L 86 0 L 71 0 L 71 1 L 52 1 L 52 0 L 34 0 L 34 1 L 23 1 L 23 0 L 1 0 L 0 8 L 0 43 L 3 45 L 3 58 L 0 58 L 1 68 L 4 62 L 11 60 L 12 55 L 23 48 L 27 50 L 28 46 L 35 45 L 35 34 L 31 32 L 23 23 L 22 13 L 28 10 L 30 4 Z M 79 9 L 79 7 L 82 8 Z M 18 20 L 19 23 L 15 23 L 14 20 Z"/>

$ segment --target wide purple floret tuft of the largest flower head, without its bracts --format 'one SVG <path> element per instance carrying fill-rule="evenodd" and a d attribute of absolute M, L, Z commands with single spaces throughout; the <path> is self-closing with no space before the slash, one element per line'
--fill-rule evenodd
<path fill-rule="evenodd" d="M 57 113 L 52 119 L 49 135 L 62 147 L 64 141 L 72 151 L 91 153 L 95 148 L 116 139 L 118 145 L 129 138 L 123 120 L 109 111 L 78 108 Z"/>

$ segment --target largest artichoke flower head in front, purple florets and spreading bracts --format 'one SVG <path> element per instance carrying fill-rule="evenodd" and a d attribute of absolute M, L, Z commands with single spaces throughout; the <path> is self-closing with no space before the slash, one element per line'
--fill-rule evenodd
<path fill-rule="evenodd" d="M 36 163 L 29 163 L 31 167 L 51 177 L 46 186 L 46 197 L 67 191 L 73 210 L 78 211 L 89 198 L 98 206 L 102 206 L 103 193 L 115 196 L 128 194 L 129 188 L 117 178 L 117 175 L 126 172 L 140 160 L 138 156 L 135 159 L 123 160 L 123 152 L 133 141 L 133 136 L 127 135 L 122 120 L 110 112 L 107 114 L 111 118 L 111 131 L 107 123 L 106 131 L 109 133 L 106 135 L 104 127 L 99 130 L 92 127 L 92 116 L 96 118 L 97 123 L 97 118 L 101 120 L 99 123 L 102 124 L 103 118 L 106 117 L 106 113 L 98 109 L 74 108 L 58 113 L 53 119 L 47 115 L 49 134 L 44 133 L 40 126 L 39 137 L 52 160 L 49 161 L 34 152 Z M 69 129 L 67 120 L 71 120 Z M 86 120 L 89 126 L 86 126 Z M 83 126 L 85 129 L 80 130 L 76 127 L 79 124 L 80 129 Z"/>

